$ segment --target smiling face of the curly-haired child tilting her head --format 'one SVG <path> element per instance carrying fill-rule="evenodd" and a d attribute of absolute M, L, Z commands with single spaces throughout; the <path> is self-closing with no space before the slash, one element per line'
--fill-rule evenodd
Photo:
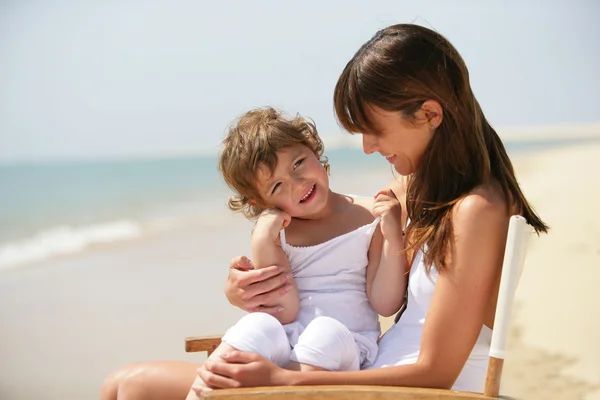
<path fill-rule="evenodd" d="M 267 207 L 294 218 L 311 218 L 327 204 L 329 177 L 312 150 L 299 144 L 277 153 L 274 171 L 258 169 L 256 188 Z"/>

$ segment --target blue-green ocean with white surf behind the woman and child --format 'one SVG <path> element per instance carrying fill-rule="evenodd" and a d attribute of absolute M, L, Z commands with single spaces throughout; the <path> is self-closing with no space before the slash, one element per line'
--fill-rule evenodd
<path fill-rule="evenodd" d="M 516 156 L 571 142 L 505 145 Z M 332 149 L 326 155 L 332 175 L 348 179 L 386 163 L 358 148 Z M 0 270 L 176 229 L 191 220 L 214 224 L 230 213 L 229 195 L 216 154 L 0 165 Z"/>

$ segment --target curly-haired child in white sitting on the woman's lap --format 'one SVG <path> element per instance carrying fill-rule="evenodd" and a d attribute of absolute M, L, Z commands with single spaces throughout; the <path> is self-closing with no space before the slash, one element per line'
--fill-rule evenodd
<path fill-rule="evenodd" d="M 223 143 L 220 171 L 236 193 L 229 208 L 258 218 L 255 268 L 280 265 L 293 283 L 275 318 L 250 313 L 209 357 L 238 349 L 295 370 L 356 371 L 377 356 L 378 315 L 400 308 L 405 257 L 398 200 L 329 189 L 313 123 L 273 108 L 245 114 Z M 198 378 L 190 391 L 205 389 Z"/>

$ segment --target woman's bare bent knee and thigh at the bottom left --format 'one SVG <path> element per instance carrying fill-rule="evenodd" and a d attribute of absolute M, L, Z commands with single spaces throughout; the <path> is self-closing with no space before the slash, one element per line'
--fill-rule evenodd
<path fill-rule="evenodd" d="M 106 378 L 100 400 L 184 400 L 200 365 L 177 361 L 127 365 Z"/>

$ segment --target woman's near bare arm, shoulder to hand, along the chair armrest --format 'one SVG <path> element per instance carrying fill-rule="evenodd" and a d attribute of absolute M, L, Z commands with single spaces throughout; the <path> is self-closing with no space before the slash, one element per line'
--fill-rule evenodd
<path fill-rule="evenodd" d="M 438 276 L 415 364 L 366 371 L 287 371 L 241 352 L 211 363 L 203 379 L 215 387 L 266 385 L 392 385 L 450 388 L 484 324 L 499 282 L 508 215 L 503 201 L 467 196 L 453 211 L 449 268 Z"/>

